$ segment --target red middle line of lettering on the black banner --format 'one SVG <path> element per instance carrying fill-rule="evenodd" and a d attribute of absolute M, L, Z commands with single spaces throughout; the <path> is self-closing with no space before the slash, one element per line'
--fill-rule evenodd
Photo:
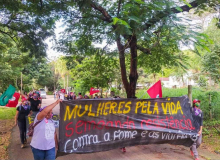
<path fill-rule="evenodd" d="M 185 116 L 183 116 L 183 118 L 185 118 Z M 174 119 L 173 116 L 170 117 L 166 116 L 165 119 L 159 119 L 157 117 L 155 119 L 141 120 L 140 125 L 143 130 L 161 129 L 161 128 L 195 130 L 195 127 L 192 126 L 192 122 L 190 119 Z M 129 116 L 127 116 L 126 121 L 124 122 L 120 120 L 107 121 L 107 122 L 105 122 L 105 120 L 100 120 L 98 122 L 79 120 L 76 122 L 75 125 L 73 125 L 73 122 L 70 122 L 66 125 L 65 135 L 66 137 L 71 137 L 74 131 L 76 134 L 82 134 L 85 132 L 89 132 L 91 130 L 109 129 L 112 127 L 123 128 L 123 129 L 136 129 L 135 122 L 129 120 Z"/>

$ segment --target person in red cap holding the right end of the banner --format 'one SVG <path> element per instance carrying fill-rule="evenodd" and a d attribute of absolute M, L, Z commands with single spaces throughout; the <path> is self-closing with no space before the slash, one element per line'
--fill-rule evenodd
<path fill-rule="evenodd" d="M 193 108 L 192 108 L 192 117 L 194 119 L 194 122 L 199 124 L 199 132 L 198 132 L 198 139 L 193 143 L 193 145 L 190 147 L 191 155 L 195 158 L 195 160 L 199 160 L 199 154 L 197 151 L 197 148 L 202 143 L 202 125 L 203 125 L 203 113 L 200 109 L 200 100 L 194 99 L 193 100 Z"/>

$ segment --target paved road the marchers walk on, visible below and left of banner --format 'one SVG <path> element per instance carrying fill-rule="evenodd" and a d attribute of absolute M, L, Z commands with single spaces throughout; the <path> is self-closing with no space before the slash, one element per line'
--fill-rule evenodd
<path fill-rule="evenodd" d="M 42 106 L 49 105 L 55 100 L 52 96 L 48 96 L 47 99 L 43 99 Z M 54 113 L 59 113 L 59 105 L 57 105 Z M 28 139 L 28 144 L 30 144 Z M 200 160 L 220 159 L 215 153 L 211 153 L 200 147 L 199 153 L 203 158 Z M 26 148 L 20 148 L 19 130 L 18 127 L 14 127 L 12 130 L 12 138 L 9 146 L 9 159 L 10 160 L 33 160 L 30 145 Z M 111 151 L 90 153 L 90 154 L 70 154 L 63 157 L 58 157 L 57 160 L 193 160 L 190 156 L 189 149 L 183 146 L 175 146 L 169 144 L 162 145 L 140 145 L 134 147 L 127 147 L 127 152 L 122 153 L 120 149 L 114 149 Z"/>

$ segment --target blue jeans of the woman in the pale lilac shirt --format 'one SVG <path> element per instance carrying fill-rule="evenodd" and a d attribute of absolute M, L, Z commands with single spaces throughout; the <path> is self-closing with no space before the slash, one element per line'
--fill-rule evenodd
<path fill-rule="evenodd" d="M 34 155 L 34 160 L 55 160 L 55 147 L 50 150 L 40 150 L 31 146 Z"/>

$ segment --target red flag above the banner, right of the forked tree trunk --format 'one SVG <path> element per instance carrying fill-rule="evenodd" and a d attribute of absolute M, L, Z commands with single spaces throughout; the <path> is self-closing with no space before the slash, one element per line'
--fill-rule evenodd
<path fill-rule="evenodd" d="M 151 98 L 162 98 L 161 81 L 159 80 L 152 87 L 147 90 L 147 93 Z"/>

